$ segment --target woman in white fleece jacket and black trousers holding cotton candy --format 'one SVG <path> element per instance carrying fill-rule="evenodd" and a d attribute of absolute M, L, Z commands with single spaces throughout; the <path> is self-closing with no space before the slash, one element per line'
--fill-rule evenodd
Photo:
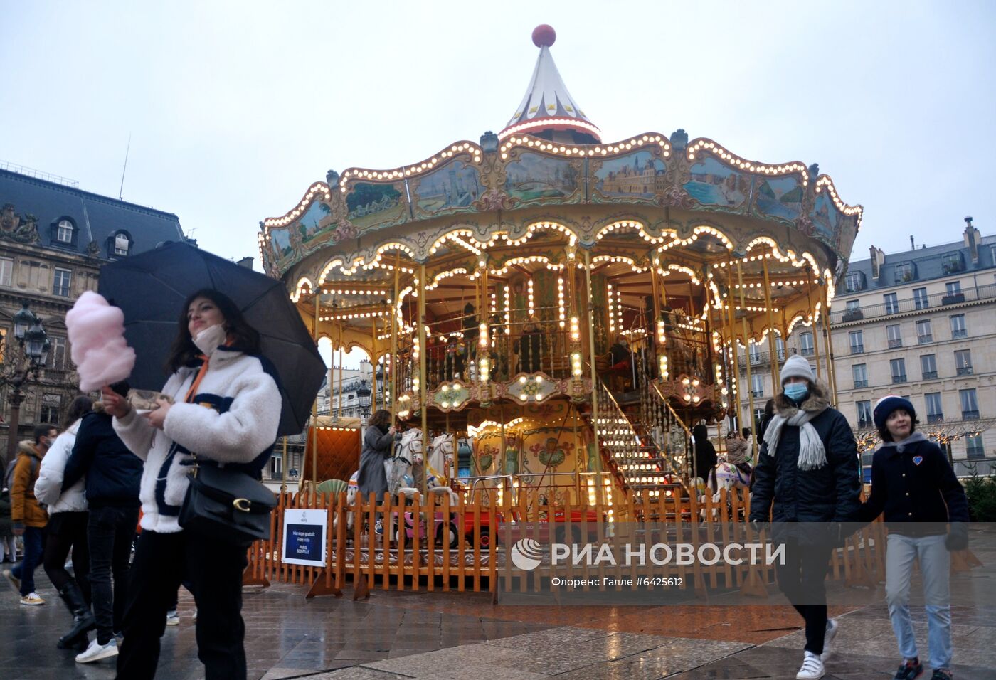
<path fill-rule="evenodd" d="M 179 526 L 194 464 L 258 475 L 277 438 L 281 396 L 259 334 L 214 290 L 190 296 L 168 361 L 172 375 L 155 410 L 139 415 L 104 389 L 106 410 L 124 444 L 144 461 L 141 538 L 124 605 L 118 677 L 155 675 L 166 610 L 181 577 L 197 603 L 197 650 L 207 680 L 246 677 L 242 621 L 244 543 L 224 543 Z"/>

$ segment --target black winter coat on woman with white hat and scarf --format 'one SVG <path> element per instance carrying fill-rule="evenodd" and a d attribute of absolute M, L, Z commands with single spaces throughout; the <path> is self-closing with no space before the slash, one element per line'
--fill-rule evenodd
<path fill-rule="evenodd" d="M 861 463 L 848 419 L 828 406 L 826 388 L 817 382 L 802 409 L 822 413 L 810 420 L 823 441 L 827 465 L 799 469 L 799 428 L 785 425 L 778 449 L 761 447 L 754 468 L 750 519 L 767 522 L 855 522 L 861 507 Z M 775 400 L 779 415 L 791 416 L 795 405 L 784 394 Z"/>

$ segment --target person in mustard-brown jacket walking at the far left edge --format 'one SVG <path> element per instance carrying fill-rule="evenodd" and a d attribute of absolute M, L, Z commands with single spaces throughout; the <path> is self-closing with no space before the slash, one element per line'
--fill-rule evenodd
<path fill-rule="evenodd" d="M 42 459 L 58 434 L 52 425 L 37 425 L 34 439 L 18 445 L 17 463 L 11 475 L 10 519 L 14 535 L 24 538 L 24 560 L 12 569 L 5 569 L 4 575 L 20 591 L 21 604 L 45 604 L 35 592 L 35 569 L 42 563 L 49 514 L 35 498 L 35 482 Z"/>

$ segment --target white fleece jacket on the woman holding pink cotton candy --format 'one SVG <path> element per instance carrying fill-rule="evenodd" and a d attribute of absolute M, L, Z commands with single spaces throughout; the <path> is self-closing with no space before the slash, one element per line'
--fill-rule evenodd
<path fill-rule="evenodd" d="M 208 369 L 192 403 L 183 403 L 183 397 L 197 368 L 180 368 L 166 380 L 161 391 L 175 403 L 162 430 L 133 408 L 114 420 L 124 445 L 144 461 L 138 492 L 142 530 L 181 531 L 177 519 L 194 462 L 191 451 L 221 464 L 249 463 L 277 439 L 280 390 L 259 358 L 224 346 L 206 353 Z"/>

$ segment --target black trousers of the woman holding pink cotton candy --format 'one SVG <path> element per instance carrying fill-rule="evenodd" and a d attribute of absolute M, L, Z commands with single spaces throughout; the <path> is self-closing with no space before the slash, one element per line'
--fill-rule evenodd
<path fill-rule="evenodd" d="M 206 680 L 245 680 L 245 567 L 244 545 L 226 544 L 192 532 L 142 532 L 124 607 L 124 645 L 118 655 L 118 677 L 145 680 L 155 676 L 166 611 L 180 582 L 188 580 L 197 604 L 197 657 L 204 664 Z"/>

